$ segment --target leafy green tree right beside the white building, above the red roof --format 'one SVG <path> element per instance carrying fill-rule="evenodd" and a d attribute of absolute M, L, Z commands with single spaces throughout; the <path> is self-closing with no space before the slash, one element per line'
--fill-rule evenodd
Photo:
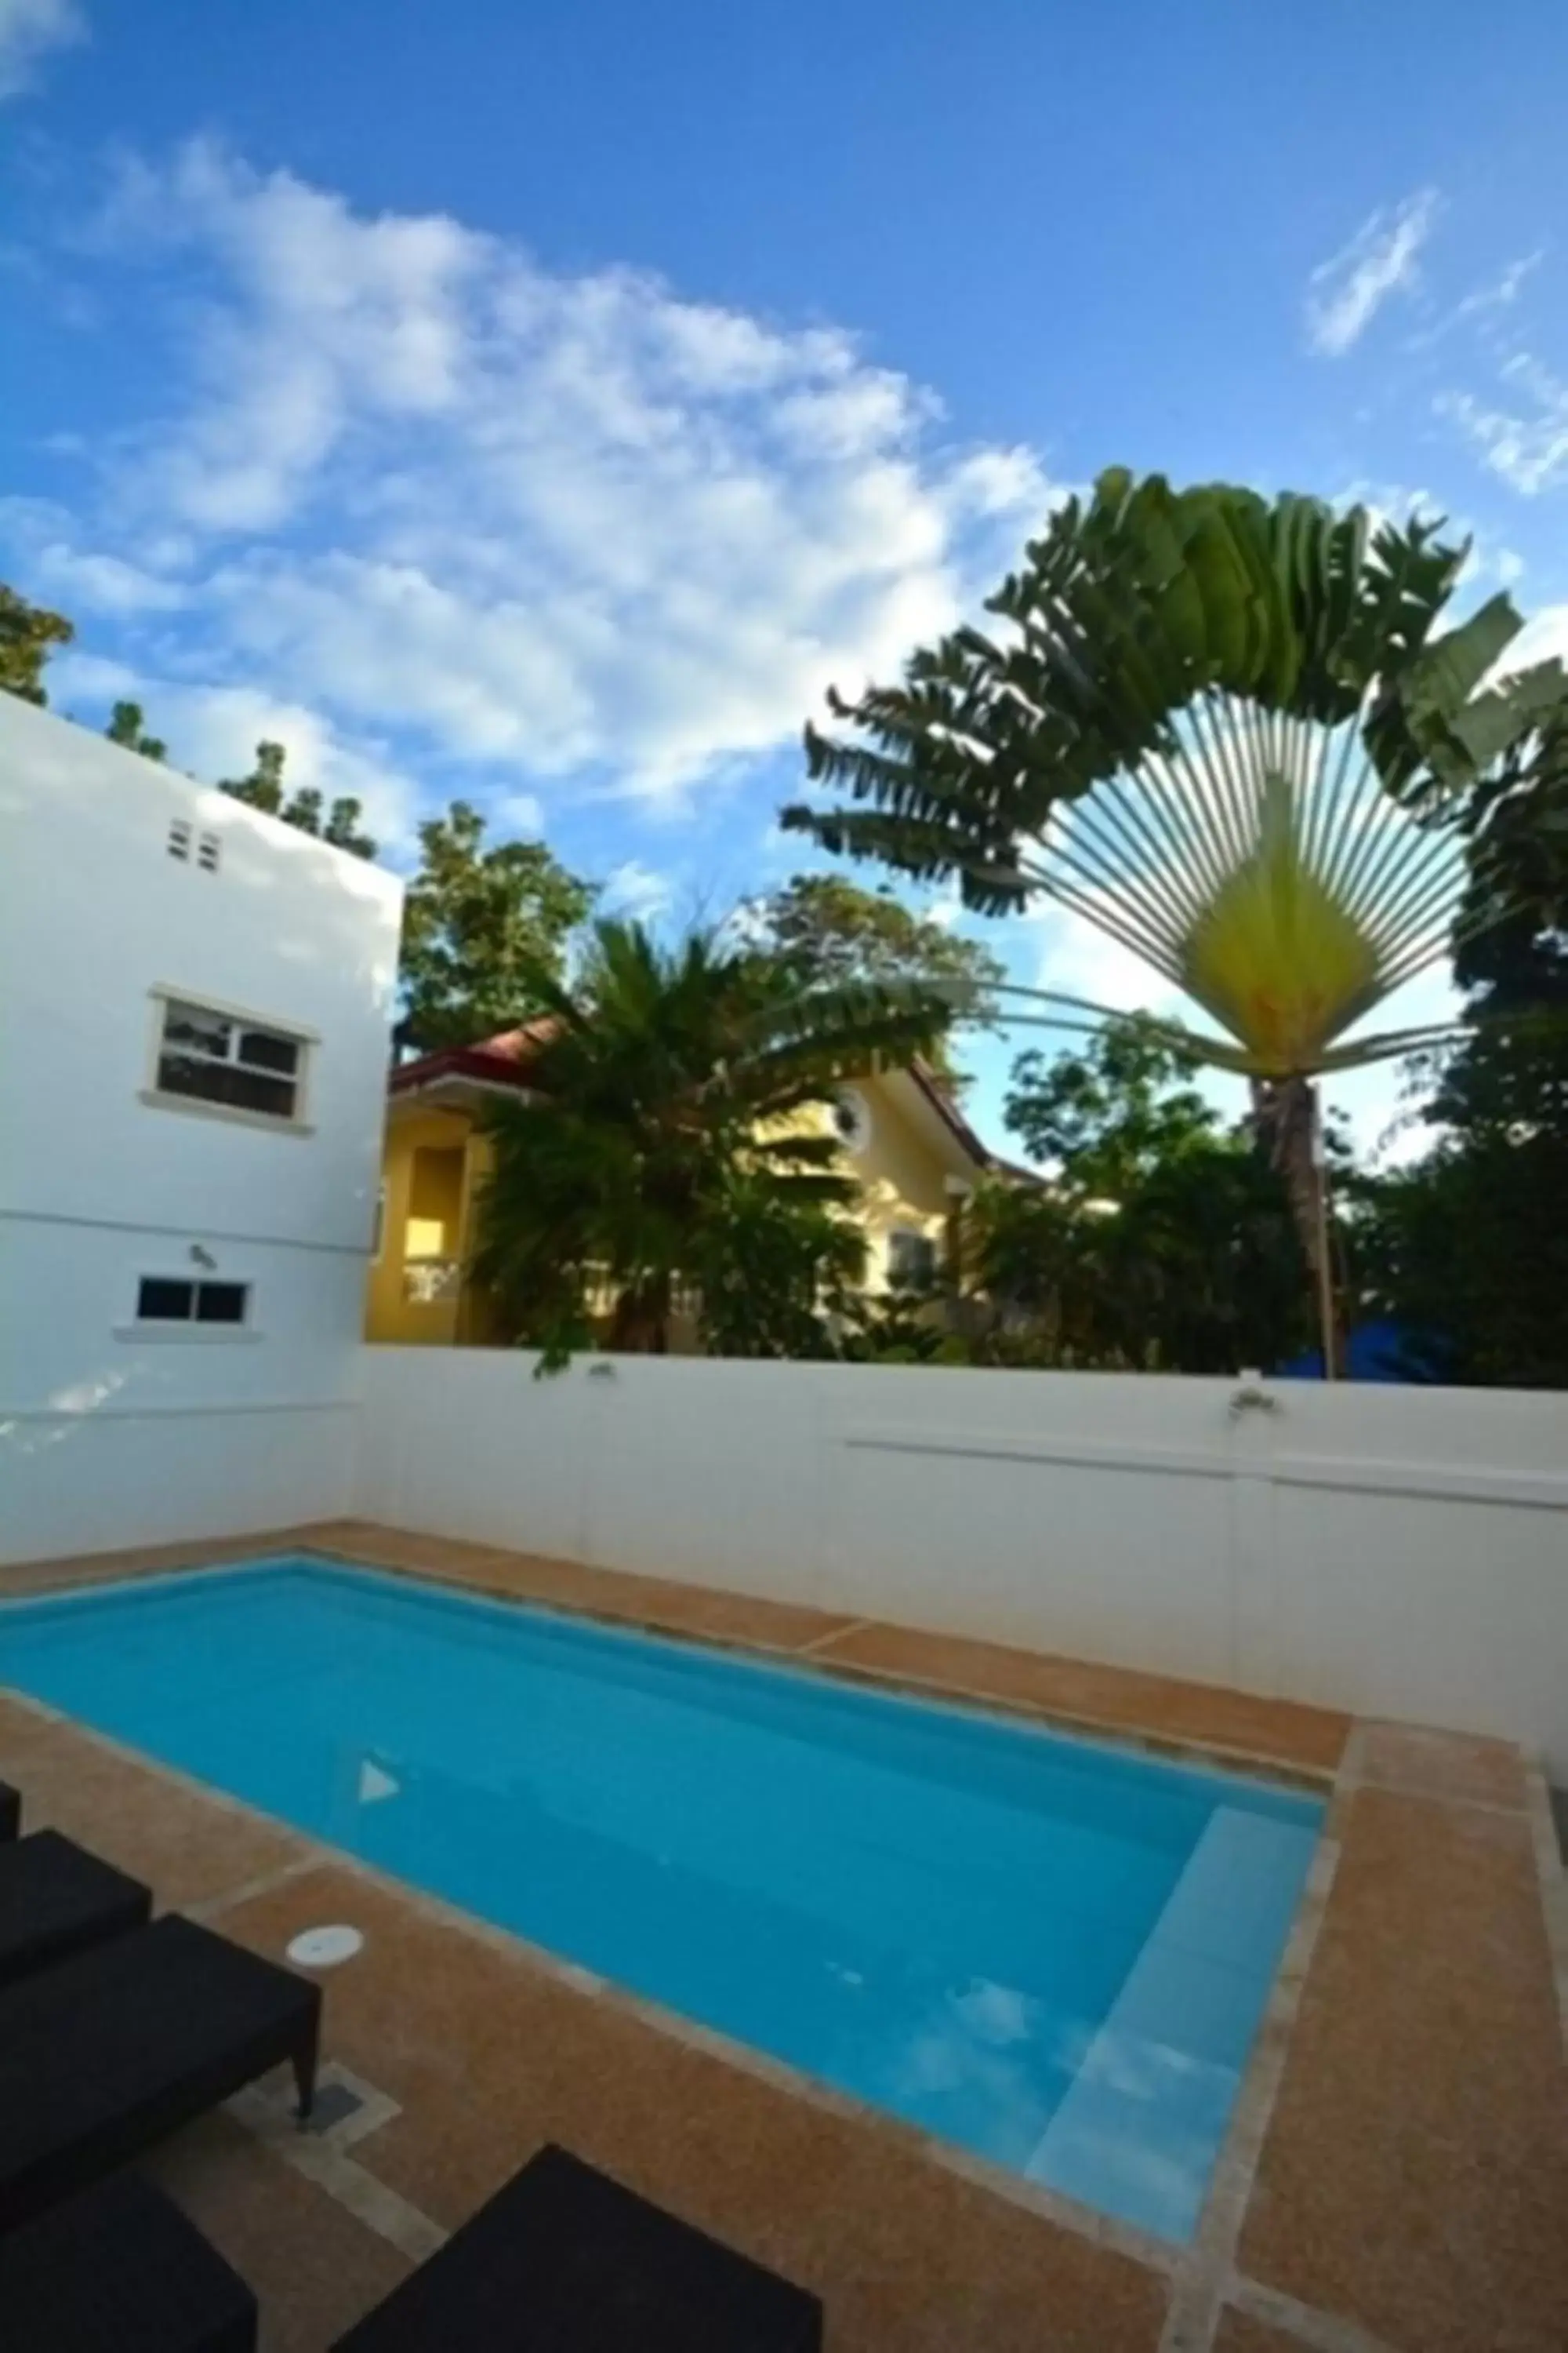
<path fill-rule="evenodd" d="M 595 892 L 543 842 L 487 847 L 484 816 L 465 800 L 428 819 L 418 845 L 402 918 L 402 1035 L 428 1054 L 536 1014 Z"/>

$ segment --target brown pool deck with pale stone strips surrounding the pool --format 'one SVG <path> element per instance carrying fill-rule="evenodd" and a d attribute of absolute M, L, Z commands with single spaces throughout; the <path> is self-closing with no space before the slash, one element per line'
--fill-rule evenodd
<path fill-rule="evenodd" d="M 301 2134 L 268 2085 L 150 2167 L 256 2287 L 263 2353 L 322 2353 L 545 2139 L 816 2289 L 827 2353 L 1568 2346 L 1568 1882 L 1509 1744 L 369 1522 L 35 1562 L 0 1595 L 299 1548 L 1241 1760 L 1331 1812 L 1173 2249 L 0 1694 L 24 1828 L 263 1953 L 364 1932 L 324 1977 L 324 2080 L 355 2113 Z"/>

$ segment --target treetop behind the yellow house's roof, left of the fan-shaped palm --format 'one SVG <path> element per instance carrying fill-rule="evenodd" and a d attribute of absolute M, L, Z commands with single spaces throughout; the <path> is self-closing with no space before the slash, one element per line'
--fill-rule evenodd
<path fill-rule="evenodd" d="M 954 1026 L 992 1021 L 1001 962 L 976 939 L 914 915 L 891 887 L 860 889 L 846 875 L 792 875 L 783 889 L 750 906 L 759 944 L 799 967 L 809 986 L 846 981 L 912 981 L 950 995 Z M 950 1049 L 936 1049 L 938 1071 L 952 1078 Z"/>

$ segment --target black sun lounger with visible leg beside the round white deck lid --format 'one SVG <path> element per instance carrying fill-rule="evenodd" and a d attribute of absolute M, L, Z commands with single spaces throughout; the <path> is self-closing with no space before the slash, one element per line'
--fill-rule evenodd
<path fill-rule="evenodd" d="M 322 1988 L 167 1913 L 0 1993 L 0 2231 L 294 2064 L 315 2097 Z"/>

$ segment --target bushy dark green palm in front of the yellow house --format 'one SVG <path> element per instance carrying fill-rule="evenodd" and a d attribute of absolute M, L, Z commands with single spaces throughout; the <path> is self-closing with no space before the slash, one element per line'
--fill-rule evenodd
<path fill-rule="evenodd" d="M 693 932 L 661 946 L 602 920 L 576 984 L 529 974 L 529 1099 L 489 1120 L 475 1275 L 559 1365 L 609 1294 L 611 1348 L 663 1353 L 684 1287 L 710 1341 L 799 1348 L 818 1287 L 853 1273 L 858 1191 L 830 1122 L 844 1080 L 907 1061 L 947 1005 L 910 988 L 806 988 L 778 955 Z"/>

